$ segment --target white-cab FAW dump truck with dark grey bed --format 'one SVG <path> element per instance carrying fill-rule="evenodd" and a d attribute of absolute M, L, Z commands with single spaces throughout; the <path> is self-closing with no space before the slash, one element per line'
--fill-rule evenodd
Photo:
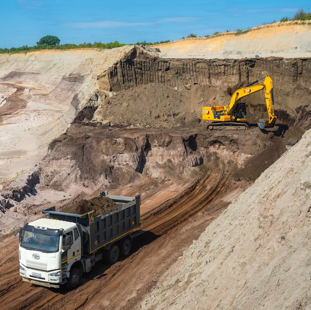
<path fill-rule="evenodd" d="M 131 251 L 132 232 L 140 227 L 140 195 L 108 195 L 119 205 L 105 214 L 42 211 L 45 218 L 26 223 L 19 230 L 20 275 L 32 284 L 74 289 L 81 275 L 105 258 L 110 264 Z M 17 235 L 18 231 L 15 233 Z"/>

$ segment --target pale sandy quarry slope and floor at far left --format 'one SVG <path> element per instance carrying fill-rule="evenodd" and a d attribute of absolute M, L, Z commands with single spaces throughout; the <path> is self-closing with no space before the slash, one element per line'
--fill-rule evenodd
<path fill-rule="evenodd" d="M 49 143 L 97 92 L 97 76 L 131 48 L 0 54 L 0 190 L 44 157 Z M 10 111 L 16 88 L 25 89 L 17 102 L 26 106 Z"/>

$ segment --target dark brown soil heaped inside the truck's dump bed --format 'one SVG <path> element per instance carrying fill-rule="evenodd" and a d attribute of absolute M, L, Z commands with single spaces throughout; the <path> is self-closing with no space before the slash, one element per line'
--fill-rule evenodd
<path fill-rule="evenodd" d="M 119 205 L 108 197 L 93 197 L 89 200 L 80 199 L 64 205 L 61 211 L 75 214 L 85 214 L 90 211 L 95 211 L 96 215 L 100 215 L 117 209 L 118 207 Z"/>

